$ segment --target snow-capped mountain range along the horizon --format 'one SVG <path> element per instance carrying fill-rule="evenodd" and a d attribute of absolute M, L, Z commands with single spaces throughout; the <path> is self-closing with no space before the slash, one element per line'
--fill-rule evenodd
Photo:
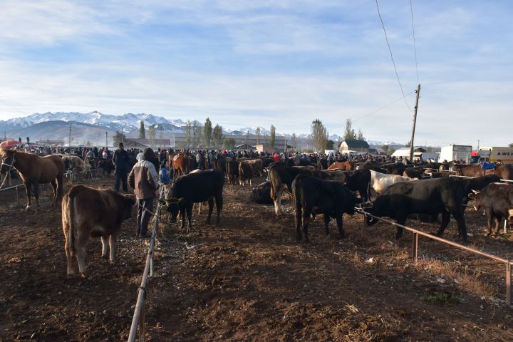
<path fill-rule="evenodd" d="M 137 138 L 140 122 L 145 123 L 145 128 L 150 125 L 157 125 L 158 131 L 162 130 L 162 135 L 167 138 L 171 133 L 184 133 L 187 123 L 182 119 L 170 120 L 162 116 L 155 116 L 146 113 L 126 113 L 123 115 L 109 115 L 98 111 L 90 113 L 78 112 L 46 112 L 35 113 L 22 118 L 13 118 L 9 120 L 0 120 L 0 134 L 4 133 L 6 138 L 17 139 L 21 137 L 30 137 L 32 141 L 36 140 L 64 140 L 68 141 L 69 128 L 71 124 L 71 135 L 73 141 L 86 144 L 90 142 L 93 145 L 100 145 L 105 142 L 105 133 L 107 138 L 111 139 L 116 131 L 125 133 L 130 138 Z M 203 127 L 204 123 L 198 120 L 192 120 L 190 125 Z M 212 123 L 215 125 L 216 123 Z M 237 130 L 223 130 L 224 135 L 255 135 L 257 127 L 242 127 Z M 260 134 L 270 136 L 271 132 L 260 127 Z M 277 133 L 276 135 L 291 136 L 289 134 Z M 311 135 L 308 133 L 299 133 L 296 138 L 308 139 Z M 343 140 L 340 135 L 332 134 L 329 139 L 333 141 Z M 110 141 L 109 141 L 110 142 Z M 368 141 L 370 145 L 400 145 L 395 142 Z"/>

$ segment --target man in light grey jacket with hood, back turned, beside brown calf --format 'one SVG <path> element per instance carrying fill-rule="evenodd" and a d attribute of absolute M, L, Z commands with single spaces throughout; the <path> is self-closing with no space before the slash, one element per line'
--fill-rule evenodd
<path fill-rule="evenodd" d="M 147 226 L 153 211 L 155 190 L 159 187 L 157 171 L 150 160 L 155 160 L 155 152 L 148 147 L 143 152 L 143 159 L 134 165 L 128 175 L 128 182 L 135 190 L 138 203 L 137 235 L 143 239 L 150 237 Z"/>

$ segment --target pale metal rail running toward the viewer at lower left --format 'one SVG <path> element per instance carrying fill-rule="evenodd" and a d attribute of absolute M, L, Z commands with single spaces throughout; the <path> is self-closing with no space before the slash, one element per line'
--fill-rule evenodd
<path fill-rule="evenodd" d="M 164 194 L 163 191 L 160 192 L 160 197 Z M 142 272 L 142 280 L 138 289 L 138 300 L 135 304 L 134 316 L 132 318 L 132 326 L 130 326 L 130 335 L 128 336 L 128 341 L 135 341 L 135 337 L 137 334 L 138 326 L 139 326 L 139 341 L 145 341 L 145 299 L 146 299 L 146 282 L 149 276 L 153 276 L 153 257 L 155 250 L 155 239 L 157 237 L 157 228 L 158 222 L 160 219 L 160 202 L 157 204 L 157 210 L 155 210 L 154 219 L 153 219 L 153 229 L 150 238 L 150 247 L 148 248 L 148 252 L 146 255 L 146 264 L 145 269 Z M 153 213 L 150 213 L 153 214 Z"/>

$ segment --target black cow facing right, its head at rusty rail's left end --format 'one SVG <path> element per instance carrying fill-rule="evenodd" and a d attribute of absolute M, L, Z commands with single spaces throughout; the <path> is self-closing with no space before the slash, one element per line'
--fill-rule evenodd
<path fill-rule="evenodd" d="M 324 215 L 324 229 L 329 235 L 330 217 L 336 219 L 338 233 L 345 236 L 343 213 L 354 214 L 356 197 L 341 182 L 320 180 L 309 175 L 298 175 L 292 182 L 293 202 L 296 208 L 296 238 L 309 241 L 308 226 L 311 214 Z M 301 234 L 301 228 L 303 234 Z"/>

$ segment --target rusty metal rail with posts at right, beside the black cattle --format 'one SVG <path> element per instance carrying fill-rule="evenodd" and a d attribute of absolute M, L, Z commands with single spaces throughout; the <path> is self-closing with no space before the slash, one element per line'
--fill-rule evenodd
<path fill-rule="evenodd" d="M 360 209 L 360 208 L 355 208 L 356 209 L 356 212 L 359 212 L 360 214 L 363 214 L 364 216 L 366 217 L 372 217 L 373 219 L 379 219 L 383 222 L 387 222 L 389 224 L 392 224 L 396 227 L 400 227 L 400 228 L 403 228 L 405 229 L 406 231 L 408 232 L 412 232 L 413 233 L 413 242 L 412 242 L 412 256 L 413 256 L 413 260 L 415 262 L 417 262 L 417 259 L 418 259 L 418 237 L 419 235 L 423 236 L 423 237 L 428 237 L 430 239 L 433 239 L 433 240 L 436 240 L 438 242 L 442 242 L 443 244 L 448 244 L 452 247 L 457 247 L 459 249 L 463 249 L 467 252 L 472 252 L 474 254 L 478 254 L 482 257 L 487 257 L 489 259 L 492 259 L 494 261 L 499 261 L 501 262 L 502 264 L 506 264 L 506 303 L 508 305 L 512 305 L 512 289 L 511 289 L 511 285 L 512 285 L 512 261 L 509 261 L 508 259 L 504 259 L 504 258 L 501 258 L 501 257 L 496 257 L 492 254 L 488 254 L 488 253 L 485 253 L 485 252 L 481 252 L 481 251 L 478 251 L 477 249 L 473 249 L 473 248 L 470 248 L 470 247 L 466 247 L 466 246 L 463 246 L 462 244 L 457 244 L 456 242 L 452 242 L 452 241 L 449 241 L 449 240 L 446 240 L 446 239 L 442 239 L 441 237 L 437 237 L 435 235 L 431 235 L 431 234 L 428 234 L 428 233 L 425 233 L 425 232 L 420 232 L 420 230 L 417 230 L 417 229 L 413 229 L 411 227 L 406 227 L 406 226 L 403 226 L 403 224 L 398 224 L 398 223 L 395 223 L 395 222 L 392 222 L 388 219 L 383 219 L 381 217 L 377 217 L 377 216 L 374 216 L 373 214 L 370 214 L 368 212 L 365 212 L 363 209 Z"/>

